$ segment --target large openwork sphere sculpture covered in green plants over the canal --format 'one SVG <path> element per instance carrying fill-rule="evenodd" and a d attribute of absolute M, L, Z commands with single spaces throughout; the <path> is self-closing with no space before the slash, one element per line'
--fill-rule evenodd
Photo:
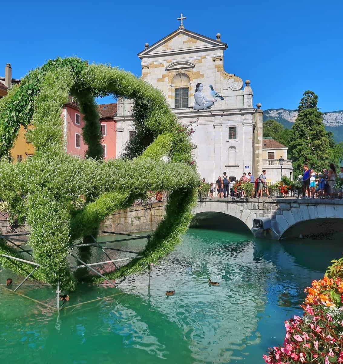
<path fill-rule="evenodd" d="M 105 162 L 94 97 L 107 94 L 134 100 L 137 137 L 123 159 Z M 85 159 L 65 152 L 61 108 L 69 95 L 77 98 L 85 115 Z M 33 125 L 27 139 L 35 145 L 35 154 L 13 165 L 7 155 L 20 125 Z M 63 289 L 74 289 L 82 277 L 73 274 L 67 262 L 73 242 L 87 241 L 106 216 L 150 190 L 170 192 L 166 216 L 140 253 L 142 257 L 111 277 L 137 272 L 174 248 L 189 226 L 199 183 L 188 135 L 178 126 L 162 93 L 144 80 L 77 58 L 48 61 L 0 100 L 0 195 L 11 214 L 31 226 L 29 245 L 40 265 L 35 278 L 51 284 L 60 280 Z M 85 203 L 80 203 L 79 195 Z M 4 252 L 16 254 L 1 241 L 0 253 Z M 78 253 L 90 256 L 89 249 Z M 29 268 L 5 257 L 0 261 L 20 274 Z"/>

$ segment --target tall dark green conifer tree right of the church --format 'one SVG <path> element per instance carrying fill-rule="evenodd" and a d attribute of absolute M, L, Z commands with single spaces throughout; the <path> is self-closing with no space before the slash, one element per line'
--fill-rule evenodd
<path fill-rule="evenodd" d="M 303 93 L 298 107 L 299 115 L 291 128 L 288 153 L 293 161 L 295 177 L 303 174 L 304 163 L 314 167 L 315 171 L 322 171 L 331 162 L 330 140 L 317 101 L 318 96 L 313 91 Z"/>

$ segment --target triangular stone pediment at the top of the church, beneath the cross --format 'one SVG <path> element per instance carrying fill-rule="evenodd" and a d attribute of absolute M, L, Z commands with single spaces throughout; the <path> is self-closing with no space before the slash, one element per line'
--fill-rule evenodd
<path fill-rule="evenodd" d="M 212 39 L 184 28 L 178 28 L 173 33 L 138 53 L 138 57 L 143 59 L 146 57 L 182 54 L 209 49 L 224 50 L 226 48 L 227 44 L 218 39 Z"/>

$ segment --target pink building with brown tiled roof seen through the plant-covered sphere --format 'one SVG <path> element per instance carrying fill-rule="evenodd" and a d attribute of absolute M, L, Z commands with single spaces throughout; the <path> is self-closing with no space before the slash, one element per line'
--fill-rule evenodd
<path fill-rule="evenodd" d="M 117 104 L 98 105 L 100 114 L 101 144 L 104 149 L 104 158 L 116 158 L 116 120 Z M 76 100 L 70 99 L 70 102 L 64 105 L 62 109 L 62 118 L 64 119 L 64 132 L 67 141 L 67 153 L 84 157 L 87 146 L 82 139 L 82 127 L 84 126 L 83 115 L 81 114 Z"/>

